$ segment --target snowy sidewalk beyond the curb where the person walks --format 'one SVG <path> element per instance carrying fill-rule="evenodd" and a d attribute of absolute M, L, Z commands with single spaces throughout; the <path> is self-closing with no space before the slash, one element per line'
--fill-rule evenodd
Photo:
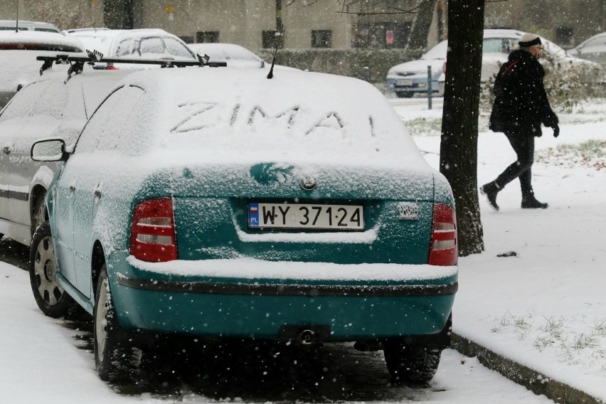
<path fill-rule="evenodd" d="M 437 168 L 440 137 L 435 127 L 439 130 L 436 120 L 442 110 L 395 108 L 411 123 L 415 142 Z M 469 339 L 533 369 L 535 376 L 530 377 L 536 380 L 527 384 L 546 393 L 551 383 L 551 398 L 570 403 L 580 396 L 563 398 L 556 382 L 570 386 L 570 394 L 578 389 L 595 402 L 606 401 L 606 107 L 586 105 L 583 110 L 560 113 L 558 139 L 544 129 L 536 140 L 533 186 L 548 209 L 521 209 L 518 181 L 499 193 L 499 212 L 481 199 L 485 251 L 459 260 L 453 312 L 459 342 Z M 578 147 L 555 150 L 558 144 L 592 145 L 588 141 L 594 142 L 598 156 L 601 150 L 601 157 L 575 156 Z M 480 133 L 478 153 L 479 185 L 515 160 L 503 134 Z M 497 257 L 512 251 L 514 256 Z"/>

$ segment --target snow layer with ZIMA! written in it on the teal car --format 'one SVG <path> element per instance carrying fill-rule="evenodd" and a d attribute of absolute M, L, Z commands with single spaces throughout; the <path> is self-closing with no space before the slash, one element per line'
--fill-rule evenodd
<path fill-rule="evenodd" d="M 169 71 L 166 71 L 169 70 Z M 426 166 L 393 107 L 361 80 L 283 71 L 157 69 L 124 83 L 144 89 L 142 148 L 195 161 L 290 161 Z M 150 134 L 152 134 L 150 136 Z M 141 149 L 137 149 L 139 153 Z"/>

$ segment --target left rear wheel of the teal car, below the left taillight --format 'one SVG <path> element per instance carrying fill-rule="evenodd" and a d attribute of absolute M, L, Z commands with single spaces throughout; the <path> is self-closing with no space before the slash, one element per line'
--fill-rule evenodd
<path fill-rule="evenodd" d="M 122 330 L 116 319 L 105 263 L 95 292 L 93 351 L 97 374 L 102 381 L 132 376 L 141 361 L 141 351 L 134 348 L 129 334 Z"/>

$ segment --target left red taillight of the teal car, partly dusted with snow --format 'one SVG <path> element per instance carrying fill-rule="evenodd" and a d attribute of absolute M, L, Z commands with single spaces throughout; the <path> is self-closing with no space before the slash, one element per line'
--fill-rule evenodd
<path fill-rule="evenodd" d="M 130 228 L 130 253 L 147 262 L 177 259 L 171 198 L 148 199 L 135 206 Z"/>

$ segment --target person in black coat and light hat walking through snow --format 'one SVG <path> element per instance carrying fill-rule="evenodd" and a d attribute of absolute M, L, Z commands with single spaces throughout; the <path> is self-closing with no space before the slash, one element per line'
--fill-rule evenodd
<path fill-rule="evenodd" d="M 541 136 L 541 123 L 553 129 L 558 137 L 558 117 L 547 100 L 543 77 L 545 70 L 538 58 L 543 53 L 541 38 L 526 33 L 519 41 L 519 49 L 509 54 L 509 60 L 501 65 L 494 82 L 494 105 L 489 127 L 493 132 L 504 132 L 517 160 L 496 177 L 479 188 L 487 196 L 495 211 L 496 194 L 516 178 L 520 179 L 522 208 L 547 208 L 547 203 L 536 200 L 532 188 L 532 164 L 534 138 Z"/>

